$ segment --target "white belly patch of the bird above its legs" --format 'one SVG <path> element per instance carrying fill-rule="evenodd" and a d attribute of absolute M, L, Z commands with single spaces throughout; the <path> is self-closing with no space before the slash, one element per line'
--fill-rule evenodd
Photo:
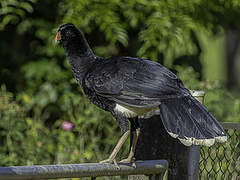
<path fill-rule="evenodd" d="M 123 114 L 127 118 L 134 118 L 137 116 L 139 118 L 150 118 L 153 115 L 159 114 L 159 108 L 157 106 L 150 108 L 135 108 L 116 104 L 114 111 Z"/>

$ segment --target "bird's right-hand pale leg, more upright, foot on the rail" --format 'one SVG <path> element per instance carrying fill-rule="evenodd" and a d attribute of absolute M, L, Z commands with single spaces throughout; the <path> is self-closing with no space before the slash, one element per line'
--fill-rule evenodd
<path fill-rule="evenodd" d="M 121 160 L 120 161 L 121 163 L 133 163 L 133 166 L 134 167 L 136 166 L 135 163 L 133 162 L 133 158 L 134 158 L 134 153 L 135 153 L 139 134 L 140 134 L 140 128 L 137 128 L 133 133 L 132 146 L 130 148 L 129 155 L 126 159 Z"/>

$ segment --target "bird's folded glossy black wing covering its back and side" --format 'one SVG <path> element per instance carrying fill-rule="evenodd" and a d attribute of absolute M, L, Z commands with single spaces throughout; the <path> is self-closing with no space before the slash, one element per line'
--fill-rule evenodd
<path fill-rule="evenodd" d="M 88 88 L 119 104 L 157 106 L 188 91 L 175 74 L 154 61 L 120 57 L 99 61 L 85 78 Z"/>

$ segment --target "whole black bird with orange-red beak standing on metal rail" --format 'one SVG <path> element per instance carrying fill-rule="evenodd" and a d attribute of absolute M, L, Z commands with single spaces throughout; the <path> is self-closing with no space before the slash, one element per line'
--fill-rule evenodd
<path fill-rule="evenodd" d="M 101 162 L 116 164 L 115 157 L 130 131 L 133 135 L 130 153 L 121 162 L 132 162 L 140 132 L 138 118 L 156 114 L 166 131 L 186 146 L 211 146 L 215 141 L 227 140 L 218 121 L 161 64 L 133 57 L 98 57 L 71 23 L 60 26 L 56 40 L 65 49 L 73 74 L 86 96 L 111 112 L 119 123 L 122 136 L 108 159 Z"/>

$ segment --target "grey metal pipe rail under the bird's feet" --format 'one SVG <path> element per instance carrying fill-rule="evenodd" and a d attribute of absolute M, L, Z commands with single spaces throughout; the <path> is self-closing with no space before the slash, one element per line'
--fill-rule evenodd
<path fill-rule="evenodd" d="M 124 175 L 154 175 L 166 178 L 168 162 L 166 160 L 137 161 L 136 167 L 119 163 L 113 164 L 84 163 L 61 165 L 34 165 L 0 167 L 0 180 L 57 179 L 74 177 L 124 176 Z M 159 178 L 160 179 L 160 178 Z"/>

